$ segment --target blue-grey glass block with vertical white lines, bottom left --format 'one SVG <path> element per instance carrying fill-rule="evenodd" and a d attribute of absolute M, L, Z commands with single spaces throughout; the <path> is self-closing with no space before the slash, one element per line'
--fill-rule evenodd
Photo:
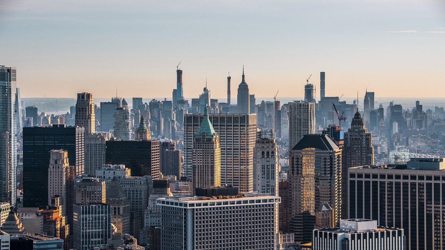
<path fill-rule="evenodd" d="M 111 206 L 105 203 L 74 204 L 74 249 L 100 247 L 111 238 Z"/>

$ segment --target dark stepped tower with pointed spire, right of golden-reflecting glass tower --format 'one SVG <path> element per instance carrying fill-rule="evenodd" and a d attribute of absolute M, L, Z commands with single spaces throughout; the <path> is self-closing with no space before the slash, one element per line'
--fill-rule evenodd
<path fill-rule="evenodd" d="M 372 135 L 365 129 L 363 119 L 357 111 L 352 119 L 351 128 L 344 133 L 341 165 L 342 219 L 348 218 L 348 168 L 372 164 L 374 164 Z"/>

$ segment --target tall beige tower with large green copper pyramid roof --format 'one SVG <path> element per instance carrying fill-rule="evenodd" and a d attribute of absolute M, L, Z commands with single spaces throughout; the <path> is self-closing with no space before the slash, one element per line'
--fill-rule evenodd
<path fill-rule="evenodd" d="M 195 188 L 221 185 L 221 149 L 218 134 L 209 120 L 207 106 L 204 119 L 193 140 L 193 193 Z"/>

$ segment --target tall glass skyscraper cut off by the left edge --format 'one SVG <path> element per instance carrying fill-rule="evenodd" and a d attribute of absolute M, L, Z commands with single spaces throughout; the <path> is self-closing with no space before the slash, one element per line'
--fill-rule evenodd
<path fill-rule="evenodd" d="M 0 66 L 0 202 L 16 206 L 17 196 L 17 75 L 15 67 Z"/>

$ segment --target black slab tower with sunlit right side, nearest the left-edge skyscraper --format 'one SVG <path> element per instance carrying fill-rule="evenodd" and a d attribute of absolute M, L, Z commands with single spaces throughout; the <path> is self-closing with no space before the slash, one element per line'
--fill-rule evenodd
<path fill-rule="evenodd" d="M 84 173 L 85 129 L 55 124 L 53 127 L 23 128 L 23 206 L 48 206 L 48 168 L 50 151 L 68 151 L 75 175 Z"/>

